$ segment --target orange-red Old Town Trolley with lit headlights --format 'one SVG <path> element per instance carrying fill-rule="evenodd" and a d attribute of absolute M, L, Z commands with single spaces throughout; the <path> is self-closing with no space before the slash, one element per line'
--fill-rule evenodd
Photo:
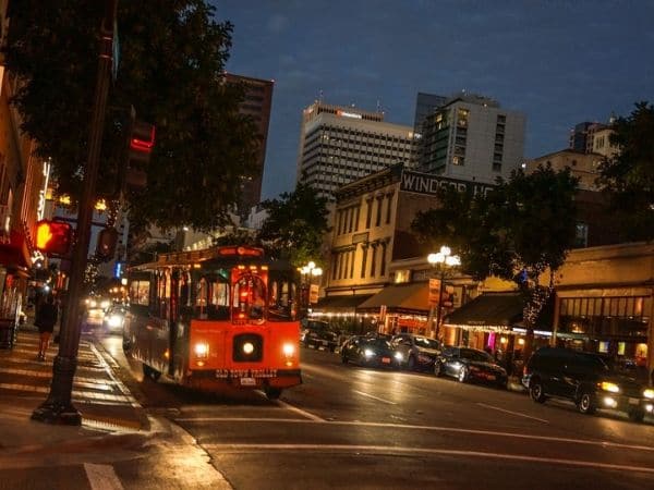
<path fill-rule="evenodd" d="M 255 247 L 161 255 L 130 272 L 125 353 L 144 375 L 205 390 L 302 382 L 293 271 Z"/>

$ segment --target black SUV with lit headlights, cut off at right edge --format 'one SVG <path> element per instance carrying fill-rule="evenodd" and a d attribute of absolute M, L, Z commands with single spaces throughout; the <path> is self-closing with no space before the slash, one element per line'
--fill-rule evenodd
<path fill-rule="evenodd" d="M 570 400 L 582 414 L 597 408 L 626 412 L 641 421 L 654 412 L 654 389 L 611 369 L 598 354 L 564 347 L 541 347 L 532 354 L 522 377 L 534 402 L 549 396 Z"/>

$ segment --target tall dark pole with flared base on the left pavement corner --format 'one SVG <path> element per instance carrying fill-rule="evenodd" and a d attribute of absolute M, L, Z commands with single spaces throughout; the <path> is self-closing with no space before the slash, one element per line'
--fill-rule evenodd
<path fill-rule="evenodd" d="M 100 146 L 107 95 L 113 57 L 113 24 L 118 0 L 106 0 L 105 17 L 100 27 L 100 52 L 96 94 L 88 139 L 88 159 L 84 170 L 83 191 L 77 212 L 76 242 L 73 248 L 68 301 L 64 305 L 64 324 L 61 326 L 59 354 L 52 366 L 52 382 L 48 399 L 34 411 L 32 418 L 49 424 L 80 425 L 82 417 L 71 402 L 73 378 L 77 368 L 81 319 L 80 307 L 84 272 L 90 242 L 96 180 L 100 161 Z"/>

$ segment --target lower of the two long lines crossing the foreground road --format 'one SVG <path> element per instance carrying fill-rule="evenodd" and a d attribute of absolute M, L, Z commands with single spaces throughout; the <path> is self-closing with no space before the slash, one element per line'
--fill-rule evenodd
<path fill-rule="evenodd" d="M 481 451 L 460 451 L 422 448 L 395 448 L 386 445 L 348 445 L 348 444 L 203 444 L 209 451 L 245 453 L 252 451 L 347 451 L 347 452 L 374 452 L 374 453 L 404 453 L 404 454 L 440 454 L 445 456 L 486 457 L 488 460 L 523 461 L 545 463 L 562 466 L 578 466 L 584 468 L 613 469 L 616 471 L 638 471 L 654 474 L 654 468 L 646 466 L 616 465 L 597 463 L 593 461 L 564 460 L 558 457 L 526 456 L 522 454 L 485 453 Z"/>

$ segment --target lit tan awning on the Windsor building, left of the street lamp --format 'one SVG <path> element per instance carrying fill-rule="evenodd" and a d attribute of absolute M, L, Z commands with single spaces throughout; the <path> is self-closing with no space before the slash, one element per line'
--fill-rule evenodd
<path fill-rule="evenodd" d="M 391 284 L 362 303 L 356 311 L 378 311 L 386 306 L 387 313 L 427 314 L 429 287 L 426 282 Z"/>

